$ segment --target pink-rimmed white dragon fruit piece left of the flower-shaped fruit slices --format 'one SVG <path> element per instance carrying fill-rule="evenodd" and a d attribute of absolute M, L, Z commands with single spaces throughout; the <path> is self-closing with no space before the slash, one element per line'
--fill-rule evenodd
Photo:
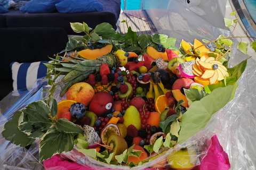
<path fill-rule="evenodd" d="M 178 78 L 194 78 L 194 77 L 196 77 L 196 75 L 192 72 L 193 64 L 196 64 L 195 60 L 187 61 L 187 62 L 181 63 L 179 66 L 177 66 L 176 67 L 177 77 Z"/>

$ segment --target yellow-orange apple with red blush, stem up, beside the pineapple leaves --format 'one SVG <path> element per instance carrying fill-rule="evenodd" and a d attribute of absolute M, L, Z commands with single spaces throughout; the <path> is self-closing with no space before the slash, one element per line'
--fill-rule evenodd
<path fill-rule="evenodd" d="M 79 82 L 71 86 L 67 91 L 67 99 L 89 106 L 95 92 L 89 83 Z"/>

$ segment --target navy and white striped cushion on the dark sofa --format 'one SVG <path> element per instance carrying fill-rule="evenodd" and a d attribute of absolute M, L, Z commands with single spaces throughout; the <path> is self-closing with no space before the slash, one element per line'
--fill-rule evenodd
<path fill-rule="evenodd" d="M 11 63 L 13 90 L 21 94 L 23 91 L 33 89 L 34 83 L 37 79 L 46 76 L 47 67 L 43 62 L 34 63 Z"/>

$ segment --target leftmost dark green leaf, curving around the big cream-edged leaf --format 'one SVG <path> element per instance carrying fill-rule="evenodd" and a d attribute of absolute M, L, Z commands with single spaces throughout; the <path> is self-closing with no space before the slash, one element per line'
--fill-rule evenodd
<path fill-rule="evenodd" d="M 28 138 L 26 133 L 19 130 L 18 121 L 21 113 L 22 112 L 20 111 L 15 112 L 12 120 L 5 123 L 2 135 L 6 140 L 10 140 L 14 145 L 26 147 L 33 143 L 35 139 Z"/>

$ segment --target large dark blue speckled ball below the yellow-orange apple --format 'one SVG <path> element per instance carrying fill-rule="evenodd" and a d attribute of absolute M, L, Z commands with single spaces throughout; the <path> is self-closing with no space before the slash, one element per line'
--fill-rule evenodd
<path fill-rule="evenodd" d="M 76 118 L 77 120 L 81 120 L 86 112 L 86 109 L 82 103 L 73 103 L 69 108 L 69 112 L 72 117 Z"/>

